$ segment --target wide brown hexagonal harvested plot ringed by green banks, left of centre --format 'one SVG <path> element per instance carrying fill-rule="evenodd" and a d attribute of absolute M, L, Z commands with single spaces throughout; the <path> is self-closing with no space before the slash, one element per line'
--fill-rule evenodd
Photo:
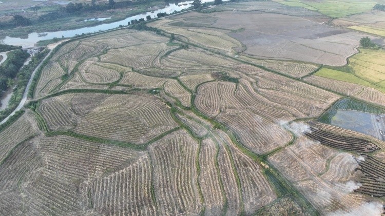
<path fill-rule="evenodd" d="M 177 126 L 165 106 L 152 96 L 73 95 L 72 103 L 69 105 L 58 103 L 57 100 L 60 101 L 60 98 L 56 99 L 57 97 L 43 101 L 45 107 L 52 107 L 40 109 L 49 128 L 62 129 L 60 126 L 66 126 L 65 122 L 71 122 L 69 118 L 76 118 L 78 124 L 71 129 L 76 133 L 144 144 Z M 73 109 L 72 113 L 69 112 L 68 106 Z"/>

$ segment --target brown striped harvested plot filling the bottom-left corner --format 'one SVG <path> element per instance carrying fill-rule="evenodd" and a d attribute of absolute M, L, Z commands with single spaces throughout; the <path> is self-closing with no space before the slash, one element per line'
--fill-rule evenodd
<path fill-rule="evenodd" d="M 36 138 L 17 147 L 0 167 L 0 173 L 4 173 L 1 185 L 8 186 L 9 190 L 9 193 L 2 193 L 0 199 L 8 200 L 4 204 L 13 204 L 5 209 L 2 202 L 0 212 L 84 214 L 79 183 L 92 182 L 129 166 L 141 155 L 127 148 L 70 136 Z M 17 197 L 22 199 L 15 200 Z"/>

